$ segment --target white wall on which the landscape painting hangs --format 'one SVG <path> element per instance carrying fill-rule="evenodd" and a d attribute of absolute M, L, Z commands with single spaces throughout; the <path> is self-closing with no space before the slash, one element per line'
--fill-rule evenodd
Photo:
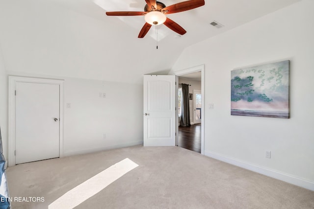
<path fill-rule="evenodd" d="M 190 46 L 172 69 L 205 64 L 206 155 L 312 190 L 313 8 L 313 0 L 302 0 Z M 230 71 L 282 60 L 290 60 L 291 118 L 231 116 Z"/>

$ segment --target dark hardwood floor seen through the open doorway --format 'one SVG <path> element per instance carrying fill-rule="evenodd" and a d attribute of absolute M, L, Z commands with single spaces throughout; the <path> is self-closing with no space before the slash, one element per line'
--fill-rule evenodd
<path fill-rule="evenodd" d="M 201 153 L 201 123 L 179 126 L 178 146 Z"/>

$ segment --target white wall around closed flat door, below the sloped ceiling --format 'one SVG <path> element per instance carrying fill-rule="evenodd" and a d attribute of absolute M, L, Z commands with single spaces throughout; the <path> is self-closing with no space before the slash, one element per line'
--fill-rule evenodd
<path fill-rule="evenodd" d="M 6 74 L 64 80 L 64 156 L 143 144 L 142 85 L 14 71 Z M 7 91 L 6 85 L 3 92 Z M 7 109 L 7 96 L 4 98 Z M 7 153 L 7 139 L 3 142 Z"/>

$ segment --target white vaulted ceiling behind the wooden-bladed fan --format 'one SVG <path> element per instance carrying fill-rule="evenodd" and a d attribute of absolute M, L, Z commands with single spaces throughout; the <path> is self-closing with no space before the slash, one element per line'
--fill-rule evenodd
<path fill-rule="evenodd" d="M 138 39 L 143 16 L 105 12 L 143 11 L 145 0 L 0 0 L 0 47 L 8 71 L 140 83 L 143 74 L 167 73 L 187 46 L 297 1 L 205 0 L 168 15 L 185 35 L 160 25 Z"/>

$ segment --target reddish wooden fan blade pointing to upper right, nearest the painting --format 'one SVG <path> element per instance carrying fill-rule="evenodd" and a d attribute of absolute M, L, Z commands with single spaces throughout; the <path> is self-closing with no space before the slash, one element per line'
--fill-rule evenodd
<path fill-rule="evenodd" d="M 163 11 L 168 10 L 165 14 L 172 14 L 177 12 L 183 12 L 186 10 L 194 9 L 200 6 L 205 5 L 205 0 L 187 0 L 180 3 L 175 3 L 170 6 L 163 8 Z"/>

